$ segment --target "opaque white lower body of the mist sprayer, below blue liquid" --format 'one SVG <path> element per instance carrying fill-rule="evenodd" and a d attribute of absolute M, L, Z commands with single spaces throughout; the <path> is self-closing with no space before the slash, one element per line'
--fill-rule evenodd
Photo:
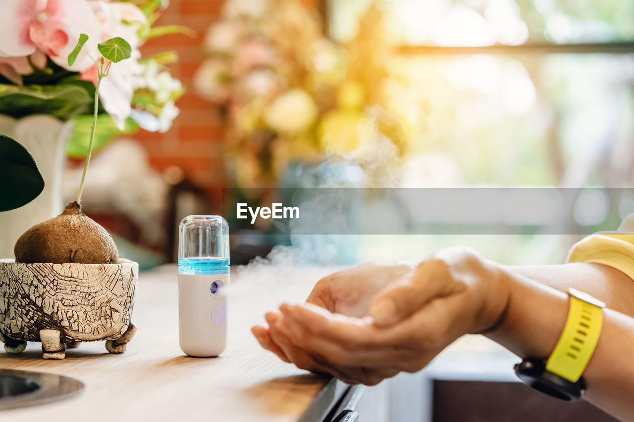
<path fill-rule="evenodd" d="M 224 352 L 229 282 L 230 274 L 178 274 L 179 345 L 185 354 L 213 357 Z"/>

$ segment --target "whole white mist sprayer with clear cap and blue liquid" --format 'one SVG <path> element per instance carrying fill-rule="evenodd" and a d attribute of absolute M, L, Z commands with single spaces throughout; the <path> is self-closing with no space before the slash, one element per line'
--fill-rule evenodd
<path fill-rule="evenodd" d="M 229 225 L 190 215 L 178 229 L 178 331 L 181 350 L 212 357 L 227 345 Z"/>

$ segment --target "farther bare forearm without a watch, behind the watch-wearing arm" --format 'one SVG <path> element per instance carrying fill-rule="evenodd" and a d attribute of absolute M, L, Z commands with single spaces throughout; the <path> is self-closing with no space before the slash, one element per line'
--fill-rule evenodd
<path fill-rule="evenodd" d="M 567 291 L 574 288 L 605 302 L 607 307 L 634 316 L 634 280 L 603 264 L 571 262 L 559 265 L 506 266 L 510 272 Z"/>

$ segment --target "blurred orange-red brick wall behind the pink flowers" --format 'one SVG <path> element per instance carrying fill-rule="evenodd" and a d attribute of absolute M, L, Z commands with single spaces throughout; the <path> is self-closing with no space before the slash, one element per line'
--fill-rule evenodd
<path fill-rule="evenodd" d="M 309 7 L 317 7 L 320 0 L 302 0 Z M 157 170 L 176 165 L 186 177 L 198 186 L 218 195 L 224 178 L 221 143 L 223 129 L 214 106 L 197 96 L 193 88 L 193 75 L 204 59 L 202 41 L 210 23 L 221 15 L 224 0 L 171 0 L 157 25 L 179 24 L 194 30 L 196 36 L 165 35 L 150 39 L 143 46 L 143 53 L 174 50 L 179 62 L 171 71 L 186 89 L 176 105 L 181 114 L 165 134 L 139 131 L 136 138 L 150 155 L 150 164 Z M 215 188 L 215 189 L 214 189 Z"/>

